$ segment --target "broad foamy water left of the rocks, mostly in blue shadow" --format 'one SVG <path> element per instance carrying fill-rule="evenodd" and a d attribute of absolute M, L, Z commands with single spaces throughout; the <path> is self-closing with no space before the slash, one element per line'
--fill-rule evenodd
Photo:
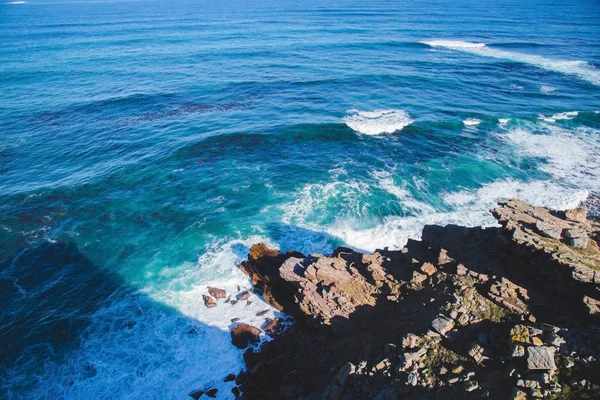
<path fill-rule="evenodd" d="M 36 367 L 36 376 L 14 368 L 11 386 L 27 386 L 27 398 L 183 399 L 192 390 L 213 387 L 218 399 L 231 398 L 234 383 L 223 378 L 245 368 L 243 351 L 231 344 L 231 319 L 260 326 L 276 311 L 256 295 L 249 305 L 218 300 L 208 309 L 202 294 L 208 285 L 229 294 L 238 285 L 248 288 L 248 278 L 236 265 L 257 242 L 276 245 L 262 236 L 216 242 L 197 264 L 176 268 L 168 284 L 146 287 L 100 309 L 78 348 L 64 360 Z M 265 309 L 266 315 L 256 315 Z M 24 354 L 22 359 L 33 358 Z M 27 363 L 23 368 L 29 368 Z"/>

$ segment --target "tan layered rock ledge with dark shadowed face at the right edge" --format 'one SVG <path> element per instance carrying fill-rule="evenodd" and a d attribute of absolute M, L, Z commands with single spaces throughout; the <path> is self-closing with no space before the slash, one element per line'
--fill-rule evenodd
<path fill-rule="evenodd" d="M 584 209 L 552 212 L 520 200 L 500 201 L 492 214 L 504 227 L 507 268 L 544 290 L 572 298 L 600 298 L 600 223 Z"/>

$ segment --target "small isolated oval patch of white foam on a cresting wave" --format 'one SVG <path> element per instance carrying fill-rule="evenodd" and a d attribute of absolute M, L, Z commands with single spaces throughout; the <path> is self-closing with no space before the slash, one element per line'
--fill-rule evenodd
<path fill-rule="evenodd" d="M 342 121 L 350 129 L 365 135 L 394 133 L 413 122 L 404 110 L 349 110 L 348 113 Z"/>

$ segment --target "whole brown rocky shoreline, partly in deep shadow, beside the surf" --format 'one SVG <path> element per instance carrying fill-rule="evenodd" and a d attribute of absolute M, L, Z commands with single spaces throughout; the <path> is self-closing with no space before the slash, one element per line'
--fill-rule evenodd
<path fill-rule="evenodd" d="M 248 347 L 233 394 L 600 398 L 600 223 L 519 200 L 491 212 L 501 227 L 426 226 L 397 251 L 252 246 L 252 290 L 295 323 L 265 321 L 273 339 Z M 239 324 L 232 341 L 261 334 Z"/>

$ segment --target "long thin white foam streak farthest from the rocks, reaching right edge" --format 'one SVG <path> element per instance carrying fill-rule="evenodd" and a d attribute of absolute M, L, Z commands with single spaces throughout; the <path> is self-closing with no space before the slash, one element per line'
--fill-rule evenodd
<path fill-rule="evenodd" d="M 586 61 L 555 60 L 535 54 L 517 53 L 486 46 L 484 43 L 471 43 L 454 40 L 433 40 L 421 42 L 432 47 L 444 47 L 451 50 L 463 51 L 483 57 L 501 58 L 534 65 L 549 71 L 574 75 L 594 85 L 600 85 L 600 71 Z"/>

